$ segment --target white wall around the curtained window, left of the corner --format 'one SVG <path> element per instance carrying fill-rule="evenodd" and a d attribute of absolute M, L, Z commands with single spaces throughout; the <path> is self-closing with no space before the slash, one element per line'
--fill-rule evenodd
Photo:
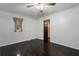
<path fill-rule="evenodd" d="M 23 17 L 23 31 L 14 32 L 14 21 L 12 17 L 23 17 L 21 15 L 0 11 L 0 46 L 27 41 L 36 38 L 36 20 Z"/>

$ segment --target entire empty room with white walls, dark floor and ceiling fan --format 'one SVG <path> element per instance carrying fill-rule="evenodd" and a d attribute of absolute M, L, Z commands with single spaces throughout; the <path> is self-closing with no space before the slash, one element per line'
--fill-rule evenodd
<path fill-rule="evenodd" d="M 79 56 L 79 3 L 0 3 L 0 56 Z"/>

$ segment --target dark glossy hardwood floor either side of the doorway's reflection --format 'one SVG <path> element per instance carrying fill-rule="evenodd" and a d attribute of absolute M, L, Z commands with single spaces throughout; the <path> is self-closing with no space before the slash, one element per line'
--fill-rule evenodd
<path fill-rule="evenodd" d="M 79 50 L 55 43 L 50 45 L 50 56 L 79 56 Z M 43 56 L 43 50 L 43 40 L 34 39 L 0 47 L 0 56 Z"/>

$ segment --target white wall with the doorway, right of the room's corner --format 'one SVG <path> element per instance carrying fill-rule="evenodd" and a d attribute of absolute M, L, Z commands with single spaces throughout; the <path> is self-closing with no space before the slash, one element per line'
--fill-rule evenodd
<path fill-rule="evenodd" d="M 79 49 L 79 6 L 38 20 L 38 38 L 43 39 L 43 20 L 51 21 L 51 42 Z"/>

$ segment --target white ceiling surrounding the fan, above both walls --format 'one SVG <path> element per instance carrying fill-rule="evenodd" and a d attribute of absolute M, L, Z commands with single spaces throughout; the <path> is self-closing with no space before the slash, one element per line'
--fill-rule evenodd
<path fill-rule="evenodd" d="M 40 18 L 52 13 L 78 6 L 79 3 L 57 3 L 52 7 L 44 7 L 43 13 L 40 13 L 40 10 L 37 9 L 36 6 L 27 8 L 27 5 L 28 3 L 0 3 L 0 10 L 21 14 L 23 16 L 28 16 L 31 18 Z"/>

